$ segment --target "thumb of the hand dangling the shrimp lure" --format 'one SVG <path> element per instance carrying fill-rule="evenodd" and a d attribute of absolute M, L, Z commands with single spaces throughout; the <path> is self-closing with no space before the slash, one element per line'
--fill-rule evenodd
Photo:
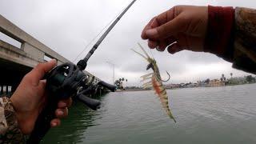
<path fill-rule="evenodd" d="M 155 27 L 154 29 L 146 30 L 146 36 L 154 41 L 159 41 L 164 38 L 168 38 L 182 30 L 185 30 L 184 22 L 182 22 L 182 18 L 176 17 L 170 22 L 166 22 L 165 24 Z"/>

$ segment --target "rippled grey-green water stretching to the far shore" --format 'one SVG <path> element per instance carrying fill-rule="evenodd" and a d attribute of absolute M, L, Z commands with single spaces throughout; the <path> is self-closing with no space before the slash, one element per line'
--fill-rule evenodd
<path fill-rule="evenodd" d="M 167 93 L 177 123 L 154 91 L 110 93 L 98 111 L 74 102 L 42 143 L 256 143 L 256 84 Z"/>

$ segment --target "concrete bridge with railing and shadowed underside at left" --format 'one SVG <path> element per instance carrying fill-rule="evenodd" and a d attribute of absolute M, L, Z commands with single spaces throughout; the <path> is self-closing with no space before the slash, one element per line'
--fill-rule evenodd
<path fill-rule="evenodd" d="M 17 47 L 0 39 L 0 94 L 8 94 L 16 90 L 23 76 L 39 62 L 46 62 L 51 58 L 57 59 L 58 64 L 69 62 L 1 14 L 0 32 L 21 43 L 21 46 Z M 95 81 L 99 79 L 95 78 Z"/>

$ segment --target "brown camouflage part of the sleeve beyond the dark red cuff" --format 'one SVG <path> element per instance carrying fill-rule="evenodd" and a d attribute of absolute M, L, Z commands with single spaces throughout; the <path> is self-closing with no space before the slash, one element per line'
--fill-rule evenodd
<path fill-rule="evenodd" d="M 256 74 L 256 10 L 235 8 L 233 67 Z"/>

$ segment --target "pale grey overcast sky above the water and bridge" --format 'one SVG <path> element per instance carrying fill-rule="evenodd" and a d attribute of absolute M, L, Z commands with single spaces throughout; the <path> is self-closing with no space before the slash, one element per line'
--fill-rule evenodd
<path fill-rule="evenodd" d="M 102 28 L 130 2 L 131 0 L 1 0 L 0 14 L 46 46 L 74 61 Z M 113 62 L 116 78 L 127 78 L 127 85 L 140 85 L 139 77 L 150 71 L 146 71 L 146 61 L 130 49 L 139 50 L 137 42 L 140 42 L 150 53 L 146 41 L 140 38 L 143 27 L 155 15 L 175 5 L 256 8 L 255 0 L 137 0 L 90 58 L 87 70 L 106 82 L 112 82 L 113 69 L 106 62 Z M 94 42 L 78 59 L 87 54 Z M 166 51 L 151 52 L 158 62 L 162 77 L 167 77 L 165 70 L 170 72 L 171 83 L 220 78 L 221 74 L 230 78 L 231 72 L 234 76 L 246 75 L 240 70 L 234 70 L 231 63 L 213 54 L 182 51 L 171 55 Z"/>

